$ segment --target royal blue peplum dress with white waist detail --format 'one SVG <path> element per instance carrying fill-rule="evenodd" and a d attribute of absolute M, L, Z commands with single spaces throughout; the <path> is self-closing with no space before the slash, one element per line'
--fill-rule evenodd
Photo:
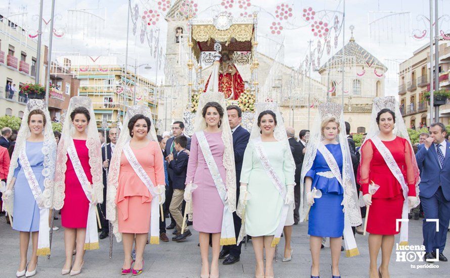
<path fill-rule="evenodd" d="M 328 144 L 325 147 L 333 155 L 342 175 L 340 144 Z M 341 205 L 344 199 L 344 190 L 319 150 L 305 177 L 312 179 L 311 190 L 316 188 L 322 192 L 322 197 L 314 199 L 314 204 L 309 210 L 308 235 L 330 238 L 341 237 L 344 232 L 344 206 Z"/>

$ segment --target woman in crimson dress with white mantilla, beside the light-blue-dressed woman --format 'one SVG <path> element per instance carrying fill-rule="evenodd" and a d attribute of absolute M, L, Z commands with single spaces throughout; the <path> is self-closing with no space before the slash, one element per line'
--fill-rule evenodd
<path fill-rule="evenodd" d="M 54 208 L 61 209 L 66 251 L 61 273 L 71 276 L 81 272 L 84 250 L 99 248 L 95 211 L 103 202 L 101 149 L 96 122 L 91 122 L 94 111 L 86 107 L 92 108 L 89 99 L 71 99 L 57 155 Z"/>

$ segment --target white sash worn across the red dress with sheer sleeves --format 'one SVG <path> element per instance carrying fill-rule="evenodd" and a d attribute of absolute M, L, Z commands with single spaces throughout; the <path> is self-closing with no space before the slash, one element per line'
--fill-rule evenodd
<path fill-rule="evenodd" d="M 408 186 L 406 184 L 406 181 L 404 180 L 403 173 L 401 172 L 400 168 L 398 167 L 397 162 L 395 162 L 394 157 L 392 156 L 389 149 L 381 142 L 380 137 L 373 136 L 371 138 L 372 142 L 374 143 L 377 150 L 380 152 L 381 156 L 384 159 L 384 162 L 386 162 L 387 166 L 389 167 L 389 170 L 394 175 L 394 177 L 397 179 L 397 181 L 400 183 L 401 189 L 403 190 L 403 208 L 401 211 L 401 219 L 406 220 L 402 221 L 401 228 L 400 228 L 400 245 L 408 245 Z"/>

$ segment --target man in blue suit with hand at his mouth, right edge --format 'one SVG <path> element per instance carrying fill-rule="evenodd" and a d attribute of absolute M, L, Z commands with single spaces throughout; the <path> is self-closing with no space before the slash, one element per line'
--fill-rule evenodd
<path fill-rule="evenodd" d="M 431 124 L 430 137 L 416 154 L 417 164 L 422 169 L 419 195 L 425 213 L 422 226 L 424 259 L 437 258 L 444 262 L 447 258 L 442 251 L 450 221 L 450 143 L 445 141 L 445 134 L 442 123 Z M 439 223 L 428 219 L 439 219 Z"/>

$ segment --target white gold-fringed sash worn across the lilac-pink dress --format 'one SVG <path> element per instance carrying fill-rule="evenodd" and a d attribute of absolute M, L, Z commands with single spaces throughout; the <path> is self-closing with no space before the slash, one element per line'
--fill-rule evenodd
<path fill-rule="evenodd" d="M 228 205 L 226 203 L 227 188 L 223 183 L 217 164 L 215 163 L 214 157 L 212 156 L 211 150 L 209 149 L 209 144 L 208 141 L 206 140 L 205 133 L 203 131 L 198 131 L 195 134 L 197 135 L 198 143 L 200 145 L 200 149 L 202 150 L 203 157 L 205 158 L 206 164 L 208 165 L 209 173 L 211 174 L 211 177 L 214 180 L 215 187 L 223 203 L 222 228 L 220 231 L 220 245 L 236 244 L 233 213 L 228 209 Z"/>

